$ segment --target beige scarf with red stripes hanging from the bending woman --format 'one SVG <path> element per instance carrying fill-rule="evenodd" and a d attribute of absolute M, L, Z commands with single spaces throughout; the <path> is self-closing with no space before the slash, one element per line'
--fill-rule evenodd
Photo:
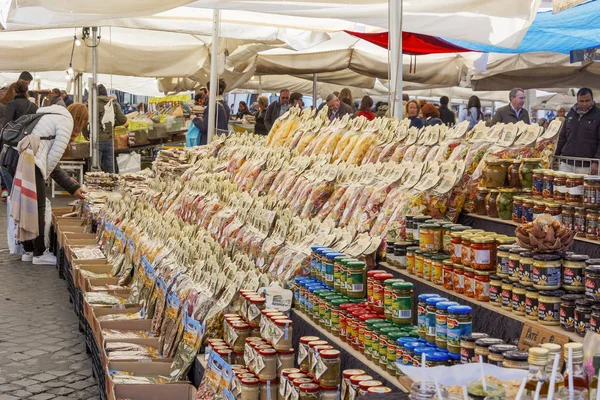
<path fill-rule="evenodd" d="M 39 147 L 40 138 L 35 135 L 25 136 L 17 145 L 20 156 L 10 194 L 10 216 L 17 224 L 17 240 L 21 242 L 40 235 L 35 185 L 35 155 Z"/>

